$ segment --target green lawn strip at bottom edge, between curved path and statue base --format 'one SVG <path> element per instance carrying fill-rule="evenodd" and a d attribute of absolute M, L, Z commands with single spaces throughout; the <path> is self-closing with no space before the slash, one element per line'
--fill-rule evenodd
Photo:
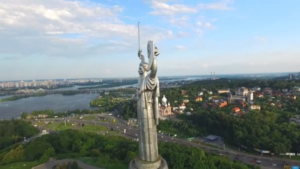
<path fill-rule="evenodd" d="M 74 158 L 76 160 L 80 160 L 88 165 L 91 166 L 96 166 L 99 168 L 105 168 L 105 169 L 128 169 L 127 164 L 125 164 L 125 162 L 119 161 L 118 164 L 113 164 L 111 163 L 110 166 L 107 165 L 99 165 L 97 163 L 97 158 L 93 158 L 93 157 L 78 157 L 78 158 Z"/>

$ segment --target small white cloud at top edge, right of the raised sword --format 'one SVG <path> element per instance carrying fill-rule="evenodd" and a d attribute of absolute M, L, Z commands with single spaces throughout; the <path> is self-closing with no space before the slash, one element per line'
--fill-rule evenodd
<path fill-rule="evenodd" d="M 233 0 L 222 0 L 216 3 L 199 3 L 197 5 L 198 9 L 212 9 L 212 10 L 232 10 L 233 7 L 228 6 L 228 4 L 233 3 Z"/>

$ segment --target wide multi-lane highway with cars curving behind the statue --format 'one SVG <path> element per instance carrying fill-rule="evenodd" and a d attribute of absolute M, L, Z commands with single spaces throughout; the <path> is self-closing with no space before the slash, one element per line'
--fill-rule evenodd
<path fill-rule="evenodd" d="M 87 120 L 72 120 L 68 119 L 72 123 L 78 123 L 78 124 L 90 124 L 90 125 L 100 125 L 105 127 L 113 128 L 114 130 L 117 130 L 120 132 L 120 134 L 123 134 L 126 137 L 129 138 L 138 138 L 138 130 L 134 127 L 128 127 L 127 124 L 124 124 L 123 121 L 118 120 L 118 125 L 107 123 L 107 122 L 99 122 L 99 121 L 87 121 Z M 44 122 L 64 122 L 64 119 L 43 119 L 40 121 Z M 124 129 L 126 129 L 126 132 L 124 132 Z M 193 147 L 200 147 L 206 152 L 210 152 L 213 154 L 217 154 L 220 156 L 227 156 L 229 159 L 240 161 L 242 163 L 257 165 L 262 167 L 262 169 L 283 169 L 284 166 L 300 166 L 300 161 L 296 160 L 289 160 L 289 159 L 280 159 L 280 158 L 270 158 L 270 157 L 261 157 L 261 156 L 254 156 L 254 155 L 248 155 L 246 153 L 241 153 L 238 151 L 230 150 L 230 149 L 218 149 L 202 144 L 196 144 L 193 142 L 190 142 L 185 139 L 178 139 L 176 137 L 170 137 L 168 135 L 162 135 L 160 133 L 157 133 L 157 137 L 159 141 L 163 142 L 176 142 L 179 144 L 185 144 Z M 260 161 L 260 162 L 257 162 Z M 274 166 L 275 164 L 276 166 Z"/>

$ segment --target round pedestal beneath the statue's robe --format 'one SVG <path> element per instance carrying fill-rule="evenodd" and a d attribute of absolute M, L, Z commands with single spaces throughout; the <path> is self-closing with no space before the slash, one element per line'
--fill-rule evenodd
<path fill-rule="evenodd" d="M 154 162 L 146 162 L 138 157 L 133 159 L 129 164 L 129 169 L 169 169 L 167 162 L 159 156 Z"/>

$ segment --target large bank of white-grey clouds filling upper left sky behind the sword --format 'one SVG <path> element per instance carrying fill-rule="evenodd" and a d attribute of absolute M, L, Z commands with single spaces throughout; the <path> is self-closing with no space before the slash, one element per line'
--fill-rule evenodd
<path fill-rule="evenodd" d="M 117 5 L 91 1 L 1 0 L 0 56 L 82 57 L 127 51 L 135 45 L 137 27 L 120 20 L 122 11 Z M 159 27 L 142 29 L 147 40 L 174 36 Z"/>

